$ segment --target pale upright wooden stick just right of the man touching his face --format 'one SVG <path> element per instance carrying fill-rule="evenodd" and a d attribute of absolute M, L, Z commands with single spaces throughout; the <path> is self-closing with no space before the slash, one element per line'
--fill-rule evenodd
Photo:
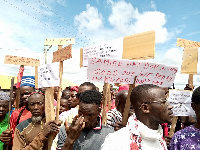
<path fill-rule="evenodd" d="M 104 88 L 103 88 L 103 111 L 102 111 L 102 124 L 106 125 L 107 123 L 107 115 L 106 115 L 106 106 L 107 106 L 107 90 L 109 83 L 104 83 Z"/>

